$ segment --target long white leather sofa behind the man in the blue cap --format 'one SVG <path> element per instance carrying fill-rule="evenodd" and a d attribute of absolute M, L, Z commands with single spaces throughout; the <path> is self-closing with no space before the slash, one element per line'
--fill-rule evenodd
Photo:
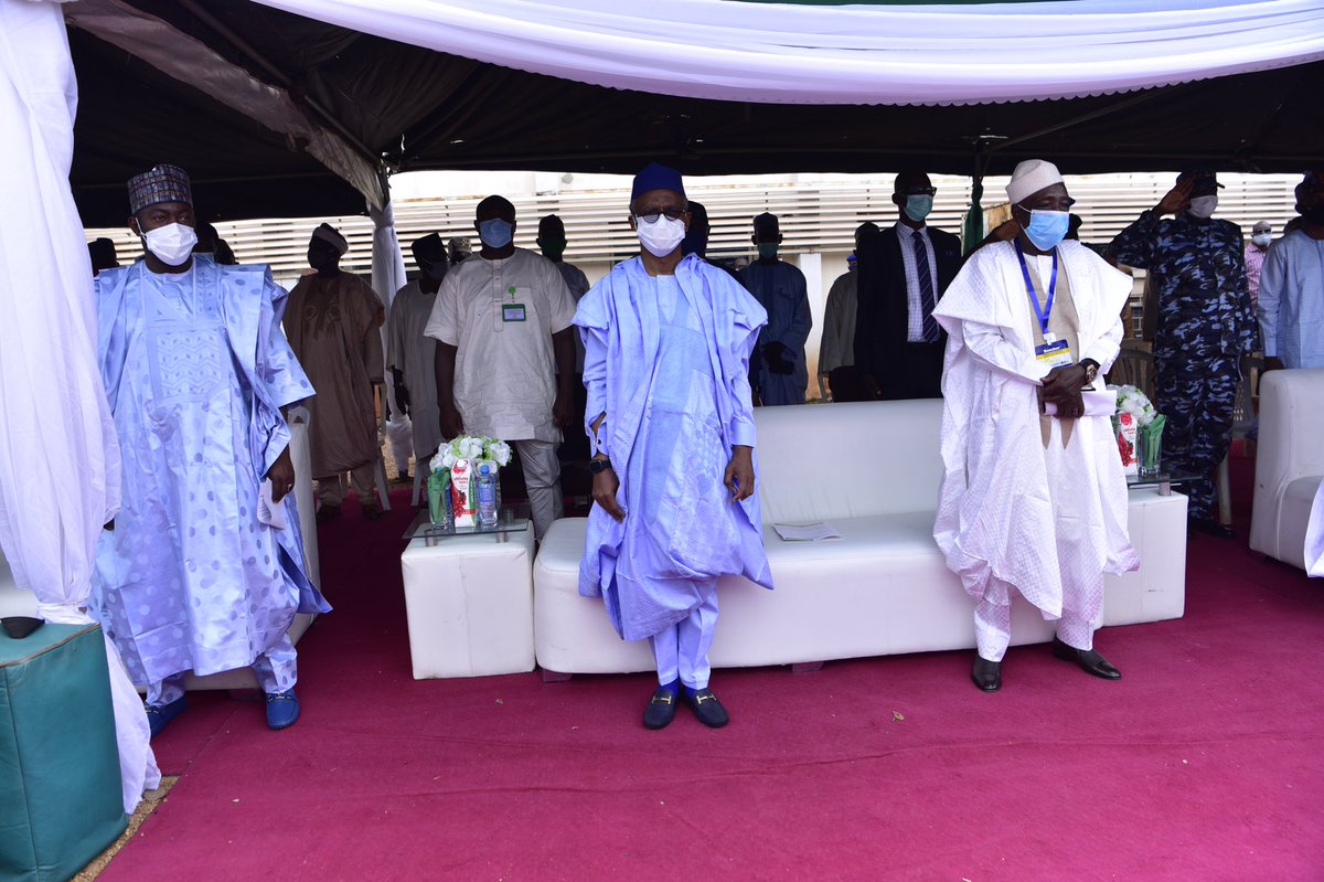
<path fill-rule="evenodd" d="M 835 658 L 973 648 L 973 605 L 932 536 L 941 401 L 760 408 L 756 415 L 764 542 L 776 589 L 723 579 L 712 663 L 813 669 Z M 814 454 L 816 448 L 829 453 Z M 830 522 L 842 539 L 784 542 L 772 526 L 812 520 Z M 579 596 L 585 523 L 556 522 L 534 564 L 536 657 L 548 679 L 653 667 L 647 641 L 622 642 L 601 601 Z M 1108 576 L 1102 624 L 1181 617 L 1186 498 L 1132 490 L 1131 539 L 1141 568 Z M 1051 640 L 1053 628 L 1017 597 L 1013 642 Z"/>

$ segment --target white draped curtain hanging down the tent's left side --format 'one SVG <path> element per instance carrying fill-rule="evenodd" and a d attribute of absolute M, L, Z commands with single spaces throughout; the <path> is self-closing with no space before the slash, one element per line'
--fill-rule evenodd
<path fill-rule="evenodd" d="M 77 109 L 60 5 L 0 0 L 0 548 L 38 616 L 83 611 L 119 448 L 97 369 L 91 265 L 69 189 Z M 143 703 L 106 641 L 124 812 L 160 783 Z"/>

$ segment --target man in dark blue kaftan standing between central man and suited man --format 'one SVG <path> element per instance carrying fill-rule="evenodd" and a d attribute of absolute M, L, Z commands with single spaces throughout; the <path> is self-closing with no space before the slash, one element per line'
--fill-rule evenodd
<path fill-rule="evenodd" d="M 805 340 L 814 326 L 805 274 L 777 260 L 781 226 L 776 215 L 753 219 L 753 244 L 759 260 L 740 270 L 740 281 L 768 311 L 768 324 L 759 332 L 755 387 L 765 405 L 804 404 L 809 385 Z"/>

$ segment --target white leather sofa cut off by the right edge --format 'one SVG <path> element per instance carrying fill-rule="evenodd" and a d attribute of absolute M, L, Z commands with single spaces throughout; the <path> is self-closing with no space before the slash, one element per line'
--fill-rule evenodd
<path fill-rule="evenodd" d="M 1324 481 L 1324 368 L 1270 371 L 1259 383 L 1250 547 L 1305 568 L 1305 524 Z"/>

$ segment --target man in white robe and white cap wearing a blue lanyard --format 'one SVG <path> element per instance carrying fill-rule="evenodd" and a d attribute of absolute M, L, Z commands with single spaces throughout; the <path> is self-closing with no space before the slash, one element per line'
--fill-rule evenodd
<path fill-rule="evenodd" d="M 1131 279 L 1063 241 L 1075 200 L 1051 163 L 1017 166 L 1006 193 L 1021 232 L 974 252 L 933 310 L 949 335 L 933 536 L 976 600 L 976 686 L 1001 687 L 1013 592 L 1058 621 L 1054 656 L 1117 679 L 1094 628 L 1103 575 L 1140 565 L 1103 385 Z"/>

